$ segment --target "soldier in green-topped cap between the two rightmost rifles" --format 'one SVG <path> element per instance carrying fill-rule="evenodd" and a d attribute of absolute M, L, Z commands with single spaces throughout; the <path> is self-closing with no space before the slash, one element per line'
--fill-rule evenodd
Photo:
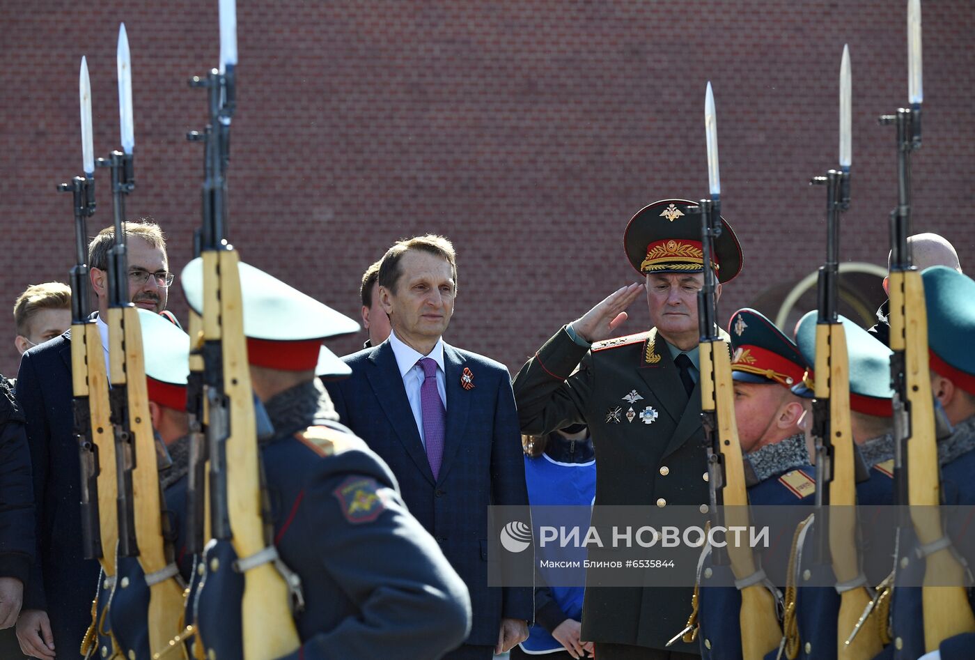
<path fill-rule="evenodd" d="M 850 377 L 850 428 L 864 467 L 870 478 L 856 485 L 857 504 L 889 505 L 894 498 L 894 391 L 890 389 L 892 351 L 876 336 L 853 321 L 839 316 L 846 335 L 846 354 Z M 816 359 L 816 312 L 802 316 L 796 326 L 796 343 L 802 355 L 814 364 Z M 805 374 L 794 392 L 812 392 L 815 374 Z"/>

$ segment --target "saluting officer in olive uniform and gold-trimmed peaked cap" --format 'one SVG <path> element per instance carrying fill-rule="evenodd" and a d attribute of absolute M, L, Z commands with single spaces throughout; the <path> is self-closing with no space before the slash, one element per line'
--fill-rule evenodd
<path fill-rule="evenodd" d="M 523 433 L 589 426 L 599 465 L 597 505 L 696 508 L 709 500 L 697 367 L 703 255 L 700 218 L 687 211 L 692 205 L 654 202 L 623 237 L 630 264 L 645 279 L 655 327 L 609 339 L 643 293 L 643 284 L 625 286 L 560 329 L 515 378 Z M 714 262 L 722 283 L 741 269 L 738 239 L 723 220 Z M 603 660 L 696 655 L 686 642 L 665 650 L 684 623 L 672 603 L 690 597 L 689 588 L 587 588 L 582 639 L 595 641 Z"/>

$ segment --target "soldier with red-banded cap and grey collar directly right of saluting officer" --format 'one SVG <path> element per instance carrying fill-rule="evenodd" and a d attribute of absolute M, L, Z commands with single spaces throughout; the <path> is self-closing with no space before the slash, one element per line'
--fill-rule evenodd
<path fill-rule="evenodd" d="M 735 419 L 745 458 L 749 503 L 753 507 L 811 505 L 816 481 L 803 429 L 808 421 L 809 398 L 792 392 L 792 387 L 802 382 L 808 364 L 796 344 L 755 309 L 739 309 L 732 314 L 728 333 L 734 351 L 731 375 Z M 788 551 L 784 543 L 775 546 L 783 547 Z M 729 585 L 734 576 L 729 565 L 713 565 L 710 548 L 704 555 L 698 575 L 701 656 L 737 660 L 742 656 L 738 618 L 741 596 L 731 586 L 708 586 Z M 787 562 L 787 556 L 771 557 L 766 552 L 761 564 L 767 575 L 780 578 L 785 575 Z"/>

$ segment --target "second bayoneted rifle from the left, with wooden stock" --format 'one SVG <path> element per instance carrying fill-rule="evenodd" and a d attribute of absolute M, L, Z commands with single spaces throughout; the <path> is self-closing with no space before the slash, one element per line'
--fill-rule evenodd
<path fill-rule="evenodd" d="M 149 416 L 138 311 L 129 300 L 125 199 L 135 188 L 132 124 L 132 68 L 123 23 L 118 47 L 123 151 L 99 164 L 111 168 L 115 242 L 108 253 L 109 401 L 118 477 L 119 555 L 138 557 L 149 586 L 147 630 L 150 648 L 162 647 L 179 630 L 182 586 L 163 536 L 157 444 Z"/>

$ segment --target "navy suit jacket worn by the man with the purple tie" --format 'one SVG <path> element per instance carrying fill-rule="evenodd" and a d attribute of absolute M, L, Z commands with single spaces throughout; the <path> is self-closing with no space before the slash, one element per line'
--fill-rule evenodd
<path fill-rule="evenodd" d="M 326 383 L 342 424 L 392 469 L 409 513 L 437 540 L 471 594 L 465 643 L 497 642 L 501 618 L 533 616 L 532 590 L 487 587 L 487 507 L 527 506 L 515 397 L 504 365 L 444 345 L 447 433 L 434 480 L 389 342 L 342 358 L 348 379 Z M 474 388 L 464 390 L 464 367 Z"/>

